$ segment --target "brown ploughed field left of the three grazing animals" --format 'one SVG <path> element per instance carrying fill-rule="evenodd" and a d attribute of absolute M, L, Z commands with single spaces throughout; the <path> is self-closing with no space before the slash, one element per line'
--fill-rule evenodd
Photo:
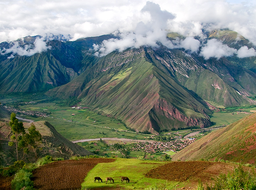
<path fill-rule="evenodd" d="M 97 163 L 115 159 L 89 158 L 52 162 L 33 171 L 34 188 L 38 190 L 76 190 Z"/>

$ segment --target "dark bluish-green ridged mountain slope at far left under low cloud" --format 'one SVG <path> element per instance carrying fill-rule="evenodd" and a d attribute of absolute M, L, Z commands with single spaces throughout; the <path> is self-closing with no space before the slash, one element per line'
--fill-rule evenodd
<path fill-rule="evenodd" d="M 0 93 L 45 91 L 66 84 L 77 74 L 49 52 L 16 56 L 0 64 Z"/>

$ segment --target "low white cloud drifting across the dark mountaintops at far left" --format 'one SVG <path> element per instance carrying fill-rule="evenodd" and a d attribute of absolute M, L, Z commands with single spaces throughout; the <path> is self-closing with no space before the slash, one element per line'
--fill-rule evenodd
<path fill-rule="evenodd" d="M 33 46 L 25 45 L 24 47 L 21 47 L 20 44 L 16 41 L 9 49 L 1 50 L 1 54 L 12 53 L 8 58 L 14 58 L 15 54 L 18 54 L 19 56 L 32 56 L 35 53 L 41 53 L 49 48 L 51 47 L 46 45 L 46 42 L 43 40 L 43 38 L 36 38 Z"/>

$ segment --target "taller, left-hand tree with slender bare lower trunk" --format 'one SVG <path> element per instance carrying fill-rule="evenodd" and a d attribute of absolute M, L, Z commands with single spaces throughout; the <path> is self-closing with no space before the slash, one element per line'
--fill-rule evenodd
<path fill-rule="evenodd" d="M 15 144 L 18 161 L 18 143 L 20 142 L 22 135 L 25 134 L 25 128 L 23 126 L 23 123 L 18 121 L 15 113 L 11 113 L 11 121 L 9 122 L 9 125 L 11 127 L 13 135 L 11 136 L 8 145 L 13 146 Z"/>

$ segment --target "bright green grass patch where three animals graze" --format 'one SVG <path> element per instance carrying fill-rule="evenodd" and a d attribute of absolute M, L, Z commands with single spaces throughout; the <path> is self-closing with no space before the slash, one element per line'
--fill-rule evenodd
<path fill-rule="evenodd" d="M 98 163 L 86 176 L 84 182 L 81 184 L 82 187 L 86 188 L 120 188 L 123 190 L 128 189 L 145 189 L 155 184 L 167 183 L 167 188 L 174 188 L 178 182 L 166 182 L 162 179 L 146 178 L 145 173 L 149 172 L 158 166 L 164 165 L 166 162 L 158 161 L 143 161 L 139 159 L 121 159 L 118 158 L 116 161 L 111 163 Z M 130 183 L 126 181 L 121 184 L 121 178 L 125 176 L 130 179 Z M 94 177 L 101 177 L 103 183 L 94 183 Z M 110 184 L 106 178 L 112 177 L 114 183 Z"/>

